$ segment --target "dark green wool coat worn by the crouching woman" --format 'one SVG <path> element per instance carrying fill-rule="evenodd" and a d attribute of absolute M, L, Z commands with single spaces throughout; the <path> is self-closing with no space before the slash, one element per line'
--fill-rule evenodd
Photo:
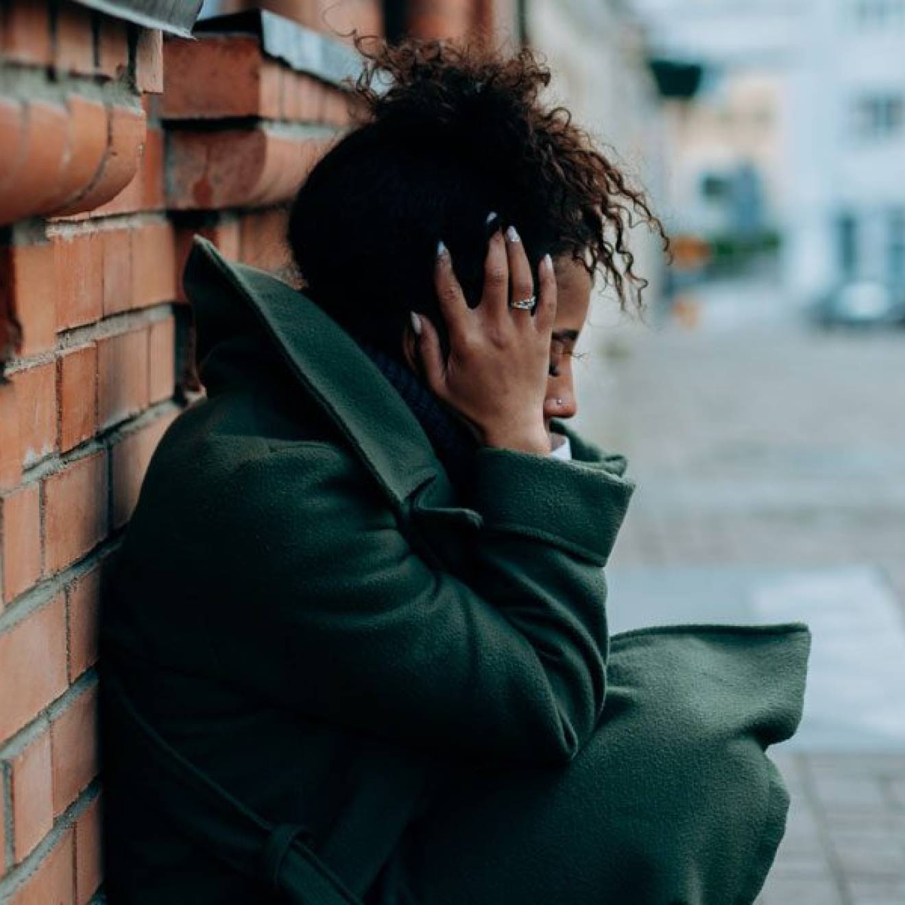
<path fill-rule="evenodd" d="M 574 461 L 480 448 L 464 506 L 310 300 L 200 239 L 185 284 L 207 398 L 148 469 L 101 691 L 118 681 L 244 805 L 308 827 L 368 903 L 751 902 L 805 627 L 609 638 L 624 459 L 555 424 Z M 179 793 L 102 712 L 111 905 L 289 900 L 171 819 Z"/>

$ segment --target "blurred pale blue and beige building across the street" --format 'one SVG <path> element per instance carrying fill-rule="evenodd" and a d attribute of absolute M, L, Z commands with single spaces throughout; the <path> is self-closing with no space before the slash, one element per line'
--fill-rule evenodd
<path fill-rule="evenodd" d="M 702 233 L 775 226 L 796 300 L 905 282 L 905 0 L 636 7 L 655 53 L 706 72 L 667 111 L 676 216 Z"/>

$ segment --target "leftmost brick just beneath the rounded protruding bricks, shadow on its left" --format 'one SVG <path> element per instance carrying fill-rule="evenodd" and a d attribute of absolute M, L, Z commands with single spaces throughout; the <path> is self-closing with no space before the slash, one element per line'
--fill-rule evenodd
<path fill-rule="evenodd" d="M 56 343 L 53 254 L 50 243 L 0 249 L 0 292 L 19 321 L 24 356 L 49 351 Z"/>

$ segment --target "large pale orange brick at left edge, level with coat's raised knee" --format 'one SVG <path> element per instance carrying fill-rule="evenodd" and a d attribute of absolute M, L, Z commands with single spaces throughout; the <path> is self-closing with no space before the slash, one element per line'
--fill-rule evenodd
<path fill-rule="evenodd" d="M 0 634 L 0 663 L 0 738 L 9 738 L 66 690 L 62 594 Z"/>

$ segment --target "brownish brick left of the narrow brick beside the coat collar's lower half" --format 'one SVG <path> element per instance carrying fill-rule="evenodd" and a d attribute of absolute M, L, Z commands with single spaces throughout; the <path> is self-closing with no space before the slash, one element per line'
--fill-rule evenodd
<path fill-rule="evenodd" d="M 101 428 L 148 408 L 148 331 L 100 339 L 98 420 Z"/>

